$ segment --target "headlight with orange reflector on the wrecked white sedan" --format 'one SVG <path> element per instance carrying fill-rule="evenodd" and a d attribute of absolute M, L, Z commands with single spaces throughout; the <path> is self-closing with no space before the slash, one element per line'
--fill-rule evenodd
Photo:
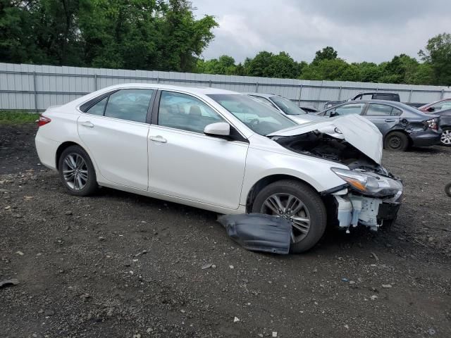
<path fill-rule="evenodd" d="M 402 183 L 376 173 L 360 172 L 331 168 L 342 180 L 349 183 L 352 189 L 370 196 L 390 196 L 402 192 Z"/>

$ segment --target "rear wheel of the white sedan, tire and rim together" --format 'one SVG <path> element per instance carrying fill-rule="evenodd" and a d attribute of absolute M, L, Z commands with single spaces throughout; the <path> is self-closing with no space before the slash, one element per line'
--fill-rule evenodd
<path fill-rule="evenodd" d="M 97 191 L 91 158 L 81 146 L 68 146 L 58 160 L 59 177 L 69 194 L 88 196 Z"/>

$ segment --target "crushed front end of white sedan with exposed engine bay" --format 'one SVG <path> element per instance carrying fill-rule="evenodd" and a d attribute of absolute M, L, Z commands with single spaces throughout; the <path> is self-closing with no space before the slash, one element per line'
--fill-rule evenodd
<path fill-rule="evenodd" d="M 370 134 L 368 130 L 368 134 L 359 138 L 343 120 L 319 130 L 304 130 L 302 134 L 268 136 L 297 154 L 346 165 L 348 169 L 331 168 L 344 184 L 322 192 L 329 215 L 347 232 L 359 224 L 377 230 L 395 220 L 401 204 L 402 182 L 380 164 L 378 150 L 382 148 L 377 133 Z M 354 122 L 362 121 L 354 119 Z M 350 134 L 352 137 L 348 137 Z"/>

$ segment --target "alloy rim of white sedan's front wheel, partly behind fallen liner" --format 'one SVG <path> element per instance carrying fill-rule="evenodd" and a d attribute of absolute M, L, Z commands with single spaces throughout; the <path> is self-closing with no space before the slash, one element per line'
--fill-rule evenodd
<path fill-rule="evenodd" d="M 261 206 L 261 213 L 279 215 L 291 221 L 291 242 L 302 241 L 310 230 L 310 214 L 300 199 L 292 194 L 278 193 L 269 196 Z"/>

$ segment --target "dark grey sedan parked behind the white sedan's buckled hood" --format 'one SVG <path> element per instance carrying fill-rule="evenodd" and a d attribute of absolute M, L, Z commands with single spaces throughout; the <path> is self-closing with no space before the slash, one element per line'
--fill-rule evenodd
<path fill-rule="evenodd" d="M 368 118 L 383 134 L 385 149 L 405 151 L 409 146 L 440 144 L 441 130 L 436 115 L 425 114 L 401 102 L 385 100 L 349 101 L 317 115 L 334 117 L 359 114 Z"/>

